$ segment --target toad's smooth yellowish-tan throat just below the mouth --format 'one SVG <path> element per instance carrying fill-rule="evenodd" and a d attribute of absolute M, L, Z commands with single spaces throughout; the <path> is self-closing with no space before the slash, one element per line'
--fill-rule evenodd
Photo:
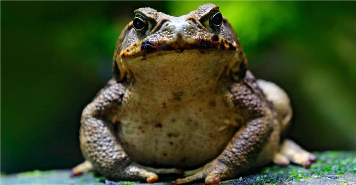
<path fill-rule="evenodd" d="M 201 52 L 205 52 L 202 54 Z M 145 88 L 181 91 L 214 87 L 224 69 L 235 61 L 235 52 L 190 49 L 159 51 L 122 60 L 121 64 Z"/>

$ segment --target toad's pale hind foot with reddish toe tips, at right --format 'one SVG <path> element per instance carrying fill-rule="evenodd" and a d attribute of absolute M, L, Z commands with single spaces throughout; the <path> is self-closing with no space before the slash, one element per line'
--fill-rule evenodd
<path fill-rule="evenodd" d="M 310 168 L 310 165 L 316 162 L 316 156 L 302 149 L 292 140 L 286 139 L 281 145 L 280 152 L 275 154 L 273 162 L 285 167 L 289 161 Z"/>

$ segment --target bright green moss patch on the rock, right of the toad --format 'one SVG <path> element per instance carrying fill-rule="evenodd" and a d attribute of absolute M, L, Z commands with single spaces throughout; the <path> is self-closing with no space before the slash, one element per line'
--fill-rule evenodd
<path fill-rule="evenodd" d="M 243 176 L 242 180 L 236 180 L 235 184 L 254 183 L 254 184 L 279 184 L 288 181 L 302 181 L 309 177 L 317 178 L 338 178 L 348 173 L 355 173 L 356 152 L 315 152 L 318 161 L 312 164 L 310 169 L 299 165 L 289 165 L 281 168 L 277 165 L 268 166 L 260 171 L 249 172 Z M 260 173 L 260 175 L 255 175 Z"/>

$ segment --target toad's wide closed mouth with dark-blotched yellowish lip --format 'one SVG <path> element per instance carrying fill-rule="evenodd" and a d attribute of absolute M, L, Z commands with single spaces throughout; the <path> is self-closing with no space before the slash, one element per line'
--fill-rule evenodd
<path fill-rule="evenodd" d="M 133 58 L 136 56 L 146 56 L 147 54 L 159 51 L 183 52 L 184 50 L 198 49 L 202 52 L 204 50 L 220 50 L 233 51 L 238 50 L 238 43 L 230 42 L 226 39 L 220 38 L 218 35 L 213 35 L 211 38 L 204 39 L 201 37 L 190 39 L 177 40 L 157 40 L 155 38 L 146 39 L 140 43 L 134 43 L 127 47 L 126 50 L 121 51 L 120 58 Z"/>

